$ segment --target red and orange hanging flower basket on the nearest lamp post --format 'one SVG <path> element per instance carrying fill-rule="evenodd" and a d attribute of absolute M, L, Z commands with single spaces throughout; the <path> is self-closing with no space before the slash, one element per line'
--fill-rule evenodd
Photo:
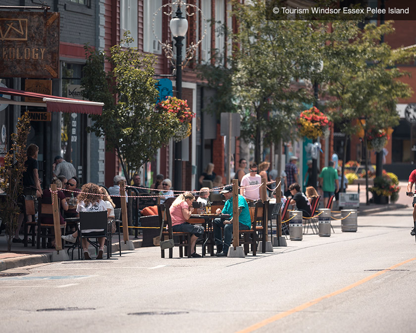
<path fill-rule="evenodd" d="M 191 122 L 195 114 L 188 107 L 186 100 L 168 96 L 165 100 L 156 104 L 156 111 L 172 113 L 177 118 L 178 127 L 173 136 L 175 142 L 179 142 L 191 135 Z"/>

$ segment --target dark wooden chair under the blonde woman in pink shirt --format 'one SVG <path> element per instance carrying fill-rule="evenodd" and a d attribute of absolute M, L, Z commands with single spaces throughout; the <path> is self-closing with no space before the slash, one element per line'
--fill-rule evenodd
<path fill-rule="evenodd" d="M 172 218 L 170 217 L 169 210 L 166 209 L 166 206 L 164 204 L 157 205 L 157 213 L 159 217 L 160 227 L 164 228 L 165 226 L 167 226 L 167 230 L 164 230 L 162 232 L 160 241 L 173 239 L 175 246 L 179 247 L 179 257 L 183 257 L 183 248 L 185 248 L 188 258 L 191 258 L 191 249 L 188 246 L 189 244 L 191 244 L 191 233 L 172 231 Z M 175 237 L 177 238 L 177 241 L 175 241 Z M 164 251 L 165 250 L 160 249 L 161 258 L 164 258 Z M 173 248 L 169 249 L 169 258 L 173 258 Z"/>

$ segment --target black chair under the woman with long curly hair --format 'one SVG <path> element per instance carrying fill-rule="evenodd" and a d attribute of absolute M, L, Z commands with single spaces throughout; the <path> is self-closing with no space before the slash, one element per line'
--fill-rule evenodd
<path fill-rule="evenodd" d="M 87 233 L 82 233 L 83 230 L 87 229 L 102 229 L 102 231 L 92 231 Z M 79 213 L 79 227 L 78 227 L 78 237 L 80 239 L 79 247 L 82 246 L 82 238 L 99 238 L 105 237 L 107 240 L 107 259 L 110 259 L 110 235 L 108 232 L 108 221 L 107 221 L 107 211 L 100 212 L 80 212 Z M 96 248 L 98 253 L 98 244 L 97 242 L 91 241 L 88 239 L 88 242 Z M 84 253 L 84 251 L 82 251 Z"/>

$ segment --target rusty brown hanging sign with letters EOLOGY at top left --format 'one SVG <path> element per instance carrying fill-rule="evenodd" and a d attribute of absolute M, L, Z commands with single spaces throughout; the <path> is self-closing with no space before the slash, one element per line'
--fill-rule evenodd
<path fill-rule="evenodd" d="M 0 11 L 1 77 L 59 77 L 59 13 Z"/>

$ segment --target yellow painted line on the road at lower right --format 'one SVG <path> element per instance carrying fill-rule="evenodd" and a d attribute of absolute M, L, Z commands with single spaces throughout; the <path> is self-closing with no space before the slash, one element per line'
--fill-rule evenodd
<path fill-rule="evenodd" d="M 293 309 L 290 309 L 288 311 L 285 311 L 285 312 L 279 313 L 277 315 L 274 315 L 274 316 L 272 316 L 270 318 L 267 318 L 267 319 L 265 319 L 265 320 L 263 320 L 263 321 L 261 321 L 261 322 L 259 322 L 257 324 L 254 324 L 254 325 L 248 327 L 247 329 L 244 329 L 242 331 L 238 331 L 236 333 L 251 333 L 251 332 L 254 332 L 256 330 L 259 330 L 260 328 L 262 328 L 262 327 L 264 327 L 264 326 L 266 326 L 268 324 L 271 324 L 273 322 L 276 322 L 279 319 L 282 319 L 284 317 L 287 317 L 287 316 L 291 315 L 292 313 L 296 313 L 296 312 L 305 310 L 305 309 L 311 307 L 312 305 L 315 305 L 315 304 L 319 303 L 320 301 L 322 301 L 324 299 L 327 299 L 327 298 L 330 298 L 330 297 L 339 295 L 339 294 L 341 294 L 341 293 L 343 293 L 345 291 L 348 291 L 348 290 L 350 290 L 352 288 L 355 288 L 355 287 L 357 287 L 357 286 L 359 286 L 359 285 L 361 285 L 361 284 L 363 284 L 365 282 L 368 282 L 369 280 L 373 279 L 374 277 L 378 277 L 378 276 L 380 276 L 380 275 L 382 275 L 382 274 L 384 274 L 386 272 L 389 272 L 391 270 L 394 270 L 395 268 L 397 268 L 399 266 L 402 266 L 404 264 L 407 264 L 407 263 L 409 263 L 409 262 L 411 262 L 413 260 L 416 260 L 416 258 L 412 258 L 412 259 L 406 260 L 406 261 L 404 261 L 402 263 L 396 264 L 396 265 L 394 265 L 394 266 L 392 266 L 390 268 L 387 268 L 387 269 L 385 269 L 383 271 L 380 271 L 380 272 L 377 272 L 377 273 L 375 273 L 373 275 L 370 275 L 369 277 L 364 277 L 362 280 L 357 281 L 357 282 L 355 282 L 353 284 L 350 284 L 349 286 L 346 286 L 345 288 L 342 288 L 342 289 L 339 289 L 337 291 L 331 292 L 331 293 L 329 293 L 329 294 L 327 294 L 325 296 L 316 298 L 316 299 L 314 299 L 314 300 L 312 300 L 310 302 L 306 302 L 306 303 L 304 303 L 302 305 L 299 305 L 299 306 L 297 306 L 297 307 L 295 307 Z"/>

